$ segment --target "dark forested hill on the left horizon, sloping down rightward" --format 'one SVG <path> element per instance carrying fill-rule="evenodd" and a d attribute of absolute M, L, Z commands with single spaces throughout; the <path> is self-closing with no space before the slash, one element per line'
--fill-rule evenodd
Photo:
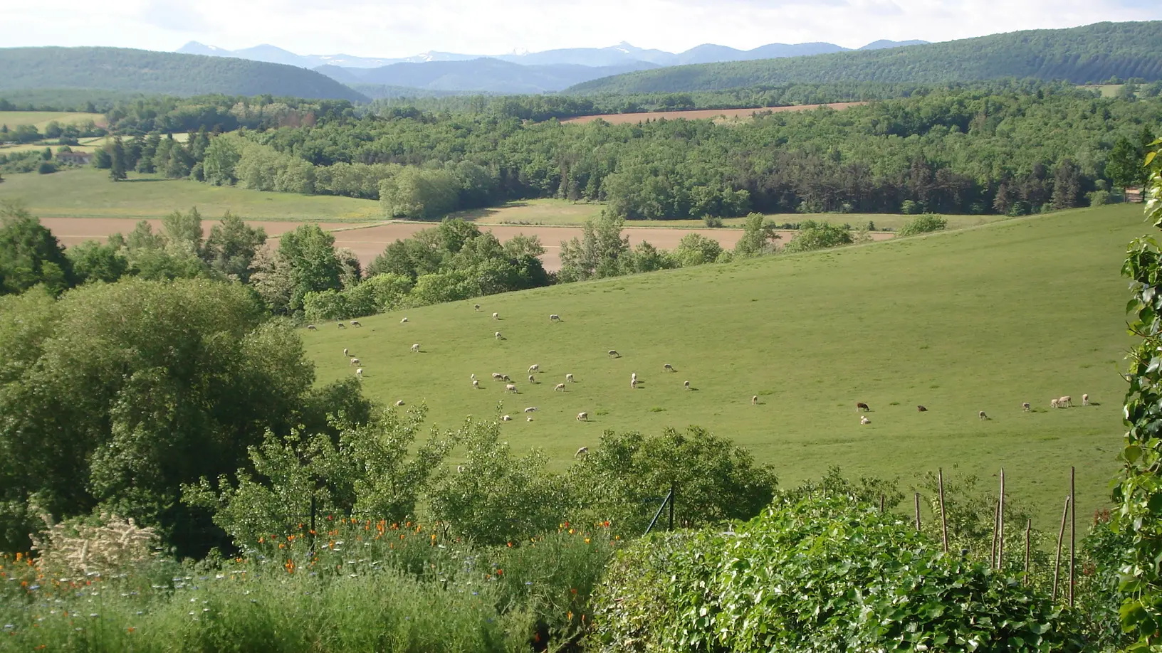
<path fill-rule="evenodd" d="M 127 48 L 2 48 L 0 71 L 0 91 L 101 88 L 367 100 L 324 74 L 295 66 Z"/>

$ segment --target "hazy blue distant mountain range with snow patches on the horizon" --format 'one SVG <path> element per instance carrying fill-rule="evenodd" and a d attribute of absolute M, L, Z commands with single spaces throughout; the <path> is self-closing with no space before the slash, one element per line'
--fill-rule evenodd
<path fill-rule="evenodd" d="M 860 48 L 860 50 L 880 50 L 884 48 L 918 45 L 921 43 L 926 43 L 926 41 L 876 41 Z M 236 57 L 239 59 L 268 62 L 272 64 L 287 64 L 304 69 L 317 69 L 318 66 L 375 69 L 392 64 L 466 62 L 485 57 L 525 66 L 578 65 L 605 67 L 634 65 L 638 62 L 654 64 L 655 66 L 680 66 L 686 64 L 747 62 L 752 59 L 772 59 L 776 57 L 824 55 L 827 52 L 846 52 L 849 51 L 849 49 L 835 45 L 834 43 L 798 43 L 794 45 L 786 43 L 770 43 L 767 45 L 760 45 L 753 50 L 738 50 L 726 45 L 706 43 L 691 48 L 684 52 L 674 53 L 666 52 L 664 50 L 646 50 L 622 42 L 617 45 L 610 45 L 609 48 L 566 48 L 560 50 L 545 50 L 544 52 L 512 55 L 459 55 L 456 52 L 430 51 L 415 55 L 413 57 L 392 59 L 353 57 L 351 55 L 295 55 L 289 50 L 284 50 L 282 48 L 267 44 L 245 48 L 242 50 L 225 50 L 214 45 L 205 45 L 196 41 L 191 41 L 177 51 L 182 55 Z"/>

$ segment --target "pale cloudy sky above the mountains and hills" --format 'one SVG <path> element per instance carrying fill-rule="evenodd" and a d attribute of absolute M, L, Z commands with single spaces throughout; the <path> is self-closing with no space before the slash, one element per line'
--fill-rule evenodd
<path fill-rule="evenodd" d="M 629 42 L 680 52 L 826 41 L 951 41 L 1019 29 L 1162 19 L 1146 0 L 0 0 L 0 48 L 115 45 L 299 55 L 502 55 Z"/>

